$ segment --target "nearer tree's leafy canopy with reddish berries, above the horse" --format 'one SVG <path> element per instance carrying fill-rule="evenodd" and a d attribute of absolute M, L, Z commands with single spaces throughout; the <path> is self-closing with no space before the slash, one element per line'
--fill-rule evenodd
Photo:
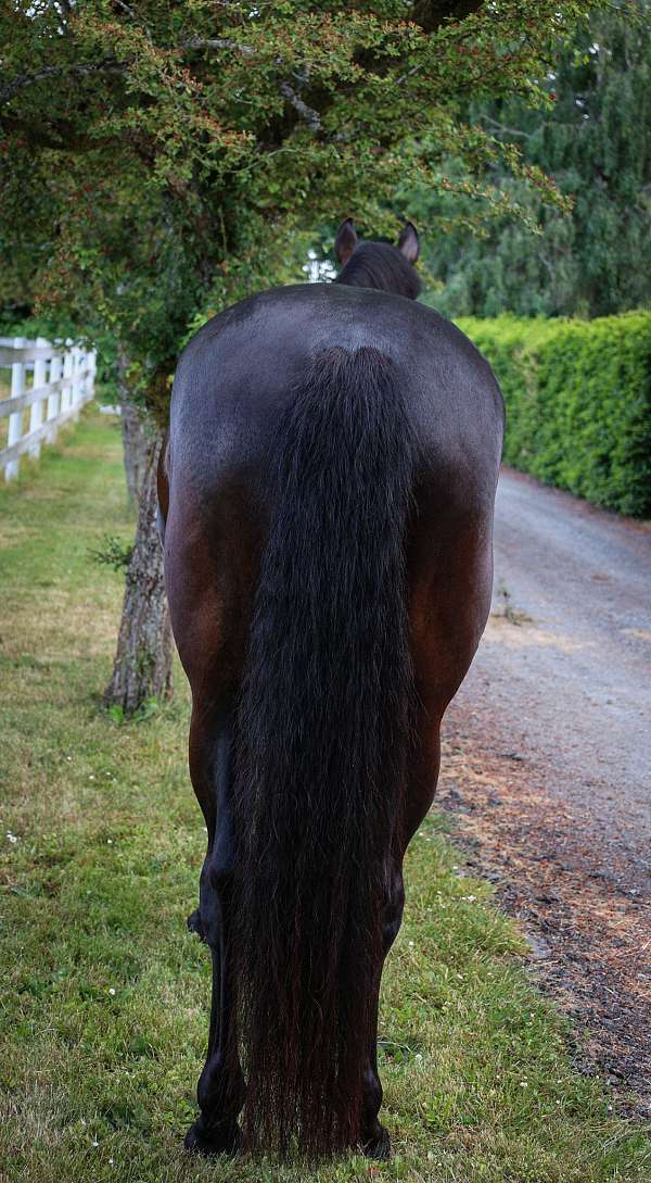
<path fill-rule="evenodd" d="M 311 227 L 353 214 L 393 233 L 415 187 L 517 212 L 496 161 L 562 201 L 467 108 L 549 102 L 555 47 L 590 7 L 7 4 L 0 299 L 119 340 L 163 418 L 188 325 L 300 278 Z"/>

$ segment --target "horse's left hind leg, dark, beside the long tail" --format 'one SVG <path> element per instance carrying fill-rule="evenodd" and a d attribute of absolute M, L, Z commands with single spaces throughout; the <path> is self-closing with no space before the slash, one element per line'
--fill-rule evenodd
<path fill-rule="evenodd" d="M 230 728 L 221 730 L 210 772 L 216 789 L 214 826 L 210 826 L 213 815 L 208 810 L 208 854 L 201 873 L 197 925 L 213 957 L 213 996 L 208 1054 L 197 1086 L 200 1116 L 185 1134 L 185 1149 L 219 1155 L 235 1153 L 240 1149 L 237 1114 L 246 1095 L 233 1030 L 236 1004 L 228 965 L 235 853 L 230 810 Z M 203 808 L 203 801 L 201 803 Z"/>

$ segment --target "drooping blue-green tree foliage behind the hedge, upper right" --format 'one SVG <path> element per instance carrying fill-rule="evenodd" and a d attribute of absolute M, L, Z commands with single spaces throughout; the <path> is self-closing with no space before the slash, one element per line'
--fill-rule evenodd
<path fill-rule="evenodd" d="M 450 316 L 605 316 L 651 300 L 651 6 L 608 6 L 584 21 L 561 49 L 547 82 L 553 106 L 519 98 L 474 103 L 469 118 L 521 146 L 523 160 L 554 176 L 573 199 L 569 218 L 499 163 L 495 183 L 540 224 L 495 219 L 470 237 L 460 219 L 468 199 L 421 190 L 432 227 L 425 238 L 432 299 Z M 450 168 L 456 168 L 454 161 Z M 454 215 L 454 225 L 450 215 Z"/>

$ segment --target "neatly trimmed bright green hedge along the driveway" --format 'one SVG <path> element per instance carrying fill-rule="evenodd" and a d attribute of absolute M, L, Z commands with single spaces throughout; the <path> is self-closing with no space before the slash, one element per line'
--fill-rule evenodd
<path fill-rule="evenodd" d="M 597 505 L 651 517 L 651 311 L 457 323 L 502 387 L 504 461 Z"/>

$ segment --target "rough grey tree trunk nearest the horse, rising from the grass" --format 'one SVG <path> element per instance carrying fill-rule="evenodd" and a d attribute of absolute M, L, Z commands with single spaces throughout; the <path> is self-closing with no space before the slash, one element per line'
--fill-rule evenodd
<path fill-rule="evenodd" d="M 148 451 L 113 673 L 104 694 L 108 706 L 119 706 L 125 715 L 148 699 L 169 698 L 172 689 L 171 627 L 156 528 L 156 467 L 162 444 L 163 432 L 157 432 Z"/>

